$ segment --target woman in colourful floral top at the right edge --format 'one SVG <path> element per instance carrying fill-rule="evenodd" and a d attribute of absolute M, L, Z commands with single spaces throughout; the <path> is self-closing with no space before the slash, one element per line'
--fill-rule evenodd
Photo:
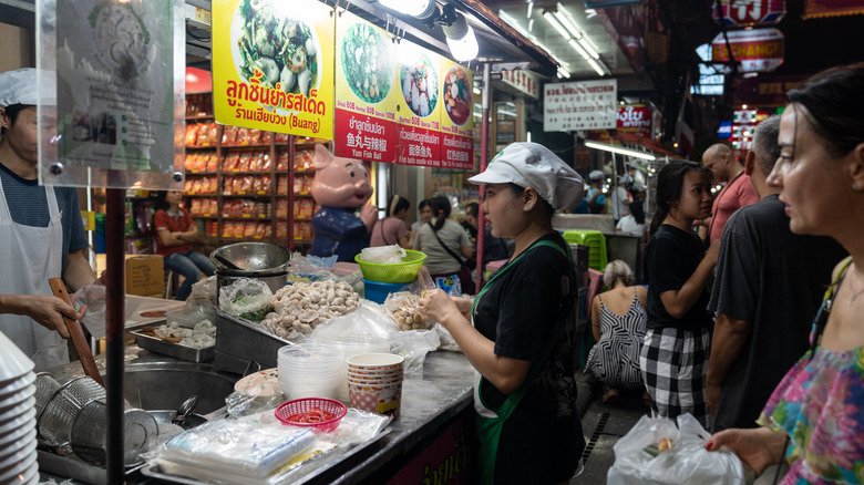
<path fill-rule="evenodd" d="M 757 474 L 789 462 L 783 484 L 864 483 L 864 63 L 819 73 L 790 91 L 781 186 L 790 228 L 827 235 L 850 252 L 834 271 L 824 331 L 774 390 L 763 427 L 726 430 L 709 450 L 733 448 Z M 820 319 L 817 319 L 820 320 Z M 821 338 L 821 340 L 820 340 Z"/>

